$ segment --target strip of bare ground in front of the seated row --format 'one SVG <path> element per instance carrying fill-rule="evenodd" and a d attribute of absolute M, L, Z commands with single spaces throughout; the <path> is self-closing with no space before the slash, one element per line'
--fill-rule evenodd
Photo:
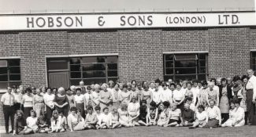
<path fill-rule="evenodd" d="M 13 135 L 1 134 L 1 137 L 8 137 Z M 17 135 L 26 137 L 256 137 L 256 126 L 244 126 L 241 128 L 196 128 L 188 129 L 184 127 L 175 128 L 161 128 L 161 127 L 135 127 L 135 128 L 120 128 L 113 130 L 87 130 L 80 132 L 63 132 L 63 133 L 51 133 L 51 134 L 33 134 L 33 135 Z"/>

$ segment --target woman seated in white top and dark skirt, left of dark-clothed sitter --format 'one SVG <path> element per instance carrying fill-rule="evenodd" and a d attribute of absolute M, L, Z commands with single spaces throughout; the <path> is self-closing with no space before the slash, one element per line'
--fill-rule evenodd
<path fill-rule="evenodd" d="M 169 111 L 169 123 L 165 127 L 179 127 L 178 123 L 181 119 L 181 110 L 177 109 L 177 105 L 174 103 Z"/>

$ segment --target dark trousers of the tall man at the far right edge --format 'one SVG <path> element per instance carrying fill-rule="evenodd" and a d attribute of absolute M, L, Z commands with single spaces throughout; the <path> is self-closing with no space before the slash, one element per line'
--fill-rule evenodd
<path fill-rule="evenodd" d="M 247 112 L 249 124 L 252 123 L 254 117 L 254 104 L 252 103 L 252 98 L 254 95 L 254 91 L 252 89 L 247 90 Z"/>

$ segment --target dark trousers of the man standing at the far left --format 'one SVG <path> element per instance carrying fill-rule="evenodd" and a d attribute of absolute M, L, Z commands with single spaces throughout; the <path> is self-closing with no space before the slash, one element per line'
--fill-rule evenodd
<path fill-rule="evenodd" d="M 9 118 L 11 119 L 11 125 L 12 125 L 12 130 L 13 124 L 14 124 L 14 106 L 3 106 L 3 112 L 4 112 L 4 117 L 5 117 L 5 122 L 6 122 L 6 132 L 9 132 Z"/>

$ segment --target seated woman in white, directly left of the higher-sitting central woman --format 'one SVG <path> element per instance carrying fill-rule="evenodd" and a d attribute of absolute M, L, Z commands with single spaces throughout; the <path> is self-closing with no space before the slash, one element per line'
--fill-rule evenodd
<path fill-rule="evenodd" d="M 130 127 L 127 111 L 127 103 L 121 103 L 121 108 L 117 110 L 119 114 L 119 122 L 124 127 Z"/>

